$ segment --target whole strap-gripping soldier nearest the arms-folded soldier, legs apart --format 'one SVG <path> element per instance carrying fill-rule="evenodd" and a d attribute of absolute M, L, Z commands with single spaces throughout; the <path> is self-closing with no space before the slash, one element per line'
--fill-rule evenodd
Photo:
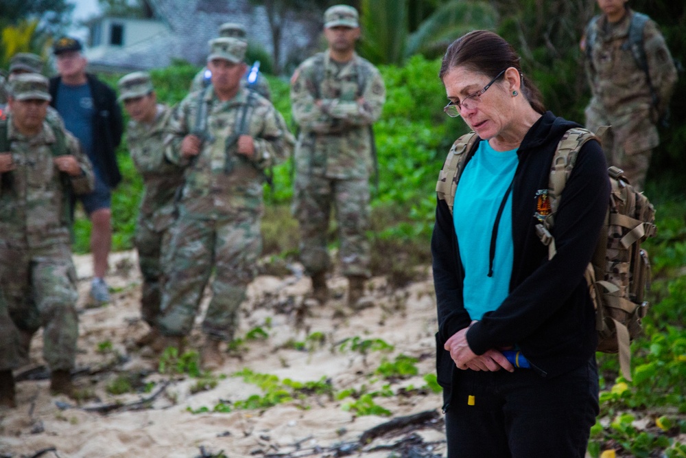
<path fill-rule="evenodd" d="M 246 286 L 261 251 L 265 169 L 291 152 L 293 136 L 281 114 L 241 87 L 246 43 L 210 41 L 212 84 L 189 94 L 169 122 L 167 159 L 185 168 L 178 220 L 171 229 L 171 260 L 153 350 L 180 345 L 215 269 L 213 295 L 202 323 L 203 367 L 221 365 L 221 341 L 233 339 Z"/>

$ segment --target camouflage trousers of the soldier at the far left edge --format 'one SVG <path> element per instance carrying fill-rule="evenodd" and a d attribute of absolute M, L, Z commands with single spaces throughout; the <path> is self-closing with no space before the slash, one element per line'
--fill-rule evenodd
<path fill-rule="evenodd" d="M 1 240 L 0 289 L 19 341 L 15 366 L 27 363 L 31 338 L 43 327 L 43 358 L 50 370 L 71 370 L 78 340 L 78 293 L 69 246 L 27 249 Z"/>

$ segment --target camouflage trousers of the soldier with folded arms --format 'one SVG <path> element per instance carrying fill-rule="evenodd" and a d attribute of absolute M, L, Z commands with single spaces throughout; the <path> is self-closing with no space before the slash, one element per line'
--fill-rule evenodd
<path fill-rule="evenodd" d="M 300 225 L 300 261 L 309 275 L 329 269 L 329 216 L 335 207 L 343 275 L 370 276 L 369 183 L 298 174 L 293 214 Z"/>

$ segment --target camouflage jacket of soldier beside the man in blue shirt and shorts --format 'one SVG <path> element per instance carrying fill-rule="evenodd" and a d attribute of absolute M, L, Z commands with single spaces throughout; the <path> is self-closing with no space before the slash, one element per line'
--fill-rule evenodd
<path fill-rule="evenodd" d="M 143 198 L 139 222 L 152 231 L 163 231 L 174 221 L 174 194 L 183 183 L 183 170 L 165 157 L 165 127 L 171 108 L 158 104 L 152 125 L 133 119 L 126 129 L 126 142 L 131 159 L 143 176 Z"/>

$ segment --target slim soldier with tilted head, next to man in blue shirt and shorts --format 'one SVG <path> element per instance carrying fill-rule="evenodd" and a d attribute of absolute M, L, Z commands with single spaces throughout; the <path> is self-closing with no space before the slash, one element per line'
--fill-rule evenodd
<path fill-rule="evenodd" d="M 119 101 L 131 117 L 126 130 L 128 150 L 143 176 L 143 198 L 139 206 L 135 244 L 143 275 L 141 314 L 151 332 L 139 345 L 156 337 L 160 312 L 163 259 L 169 227 L 176 217 L 174 196 L 183 183 L 182 168 L 165 159 L 164 135 L 171 109 L 158 104 L 150 75 L 129 73 L 119 80 Z"/>

